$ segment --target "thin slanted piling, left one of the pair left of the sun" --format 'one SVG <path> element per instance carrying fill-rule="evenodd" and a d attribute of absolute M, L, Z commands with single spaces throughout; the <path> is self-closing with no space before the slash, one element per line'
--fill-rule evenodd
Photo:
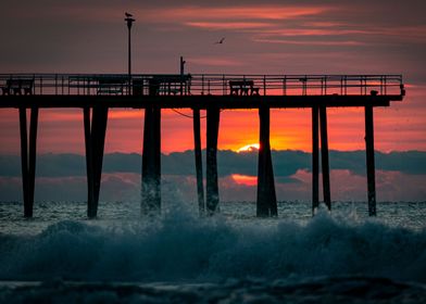
<path fill-rule="evenodd" d="M 205 213 L 204 187 L 202 182 L 201 124 L 200 109 L 193 109 L 193 153 L 196 157 L 197 194 L 200 215 Z"/>

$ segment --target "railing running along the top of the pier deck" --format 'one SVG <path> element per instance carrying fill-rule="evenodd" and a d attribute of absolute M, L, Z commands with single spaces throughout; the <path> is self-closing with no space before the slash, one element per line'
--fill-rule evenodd
<path fill-rule="evenodd" d="M 402 76 L 237 74 L 0 74 L 2 94 L 403 96 Z"/>

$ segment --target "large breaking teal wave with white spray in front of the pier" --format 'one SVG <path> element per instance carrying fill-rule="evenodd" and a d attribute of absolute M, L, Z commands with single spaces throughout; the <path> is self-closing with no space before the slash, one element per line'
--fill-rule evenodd
<path fill-rule="evenodd" d="M 223 281 L 366 276 L 426 282 L 426 231 L 321 212 L 306 225 L 170 212 L 114 225 L 65 220 L 0 235 L 1 280 Z"/>

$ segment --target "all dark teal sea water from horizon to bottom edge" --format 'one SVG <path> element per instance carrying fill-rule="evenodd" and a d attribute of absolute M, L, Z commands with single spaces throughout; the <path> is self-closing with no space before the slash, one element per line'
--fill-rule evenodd
<path fill-rule="evenodd" d="M 426 202 L 0 203 L 0 303 L 426 303 Z"/>

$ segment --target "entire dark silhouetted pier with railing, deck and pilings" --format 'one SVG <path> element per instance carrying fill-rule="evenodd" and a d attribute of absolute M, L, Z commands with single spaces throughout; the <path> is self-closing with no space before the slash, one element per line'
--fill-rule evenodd
<path fill-rule="evenodd" d="M 145 109 L 141 210 L 161 212 L 161 110 L 193 111 L 198 204 L 201 214 L 218 211 L 217 138 L 222 110 L 258 109 L 260 151 L 256 215 L 277 216 L 270 144 L 271 109 L 312 110 L 312 208 L 320 204 L 320 143 L 323 201 L 331 207 L 328 160 L 328 107 L 365 109 L 368 213 L 376 215 L 374 107 L 402 101 L 401 75 L 127 75 L 0 74 L 0 109 L 18 109 L 24 216 L 33 216 L 38 114 L 41 109 L 83 110 L 87 166 L 87 215 L 97 216 L 102 160 L 111 107 Z M 29 138 L 27 134 L 29 110 Z M 205 201 L 200 111 L 206 111 Z"/>

